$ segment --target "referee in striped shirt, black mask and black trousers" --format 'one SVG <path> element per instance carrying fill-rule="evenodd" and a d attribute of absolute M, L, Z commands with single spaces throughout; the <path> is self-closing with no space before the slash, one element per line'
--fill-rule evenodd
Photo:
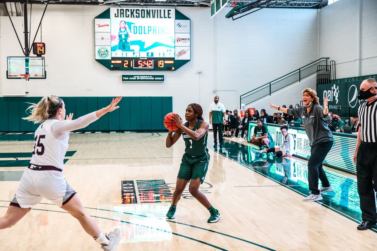
<path fill-rule="evenodd" d="M 359 99 L 365 99 L 359 107 L 359 132 L 354 154 L 356 163 L 357 192 L 363 222 L 358 230 L 376 226 L 377 212 L 374 190 L 377 191 L 377 82 L 370 78 L 360 85 Z"/>

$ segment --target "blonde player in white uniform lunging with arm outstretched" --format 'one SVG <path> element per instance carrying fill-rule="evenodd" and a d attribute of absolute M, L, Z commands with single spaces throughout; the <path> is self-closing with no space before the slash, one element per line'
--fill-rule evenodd
<path fill-rule="evenodd" d="M 76 120 L 72 120 L 72 113 L 66 116 L 65 104 L 57 96 L 43 97 L 38 104 L 32 104 L 28 108 L 31 109 L 31 115 L 24 119 L 41 125 L 35 131 L 35 144 L 29 167 L 21 177 L 5 216 L 0 217 L 0 229 L 12 227 L 42 198 L 46 198 L 77 218 L 86 233 L 100 243 L 103 250 L 115 250 L 121 237 L 120 229 L 115 228 L 109 234 L 102 233 L 78 196 L 75 196 L 76 192 L 68 185 L 62 171 L 69 132 L 84 128 L 104 114 L 118 109 L 116 104 L 121 99 L 122 97 L 116 97 L 105 108 Z"/>

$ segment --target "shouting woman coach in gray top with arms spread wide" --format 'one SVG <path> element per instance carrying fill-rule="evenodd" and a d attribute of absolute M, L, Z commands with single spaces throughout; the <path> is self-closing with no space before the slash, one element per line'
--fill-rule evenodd
<path fill-rule="evenodd" d="M 271 103 L 270 107 L 302 119 L 311 146 L 308 161 L 308 182 L 311 194 L 303 201 L 320 201 L 321 193 L 333 191 L 322 167 L 322 162 L 334 143 L 333 134 L 324 119 L 328 114 L 328 100 L 323 99 L 323 108 L 319 105 L 316 91 L 306 88 L 302 91 L 302 102 L 303 106 L 295 109 L 282 108 Z M 318 189 L 318 178 L 322 182 L 320 189 Z"/>

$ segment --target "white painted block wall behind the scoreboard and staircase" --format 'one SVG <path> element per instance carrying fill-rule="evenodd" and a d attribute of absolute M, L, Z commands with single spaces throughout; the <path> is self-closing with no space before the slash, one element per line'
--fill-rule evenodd
<path fill-rule="evenodd" d="M 49 5 L 42 26 L 47 79 L 29 81 L 28 96 L 173 96 L 174 111 L 184 113 L 187 104 L 197 102 L 207 120 L 208 106 L 216 94 L 226 108 L 238 108 L 242 93 L 319 57 L 345 62 L 337 65 L 337 78 L 358 76 L 357 53 L 363 58 L 377 53 L 377 1 L 363 0 L 362 5 L 359 1 L 341 0 L 319 11 L 262 9 L 235 21 L 225 19 L 229 9 L 210 19 L 209 8 L 180 7 L 191 18 L 192 60 L 177 71 L 164 72 L 166 81 L 158 84 L 122 83 L 125 72 L 110 71 L 94 60 L 93 19 L 107 6 Z M 359 32 L 357 6 L 362 6 Z M 33 5 L 32 37 L 43 8 Z M 23 18 L 13 20 L 22 35 Z M 0 27 L 0 96 L 21 94 L 24 82 L 5 75 L 6 56 L 21 56 L 21 49 L 8 17 L 0 18 Z M 356 48 L 358 34 L 361 49 Z M 39 33 L 36 41 L 40 41 Z M 376 58 L 364 59 L 362 74 L 377 73 L 376 63 Z M 285 95 L 284 103 L 292 97 Z"/>

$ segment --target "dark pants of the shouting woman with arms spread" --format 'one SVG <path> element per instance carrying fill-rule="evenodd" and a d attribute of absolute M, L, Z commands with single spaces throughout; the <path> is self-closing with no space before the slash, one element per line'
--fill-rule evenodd
<path fill-rule="evenodd" d="M 319 195 L 318 178 L 323 187 L 329 187 L 330 183 L 327 179 L 325 170 L 323 170 L 322 162 L 333 146 L 333 141 L 322 141 L 311 146 L 310 158 L 308 161 L 308 182 L 309 190 L 312 194 Z"/>

